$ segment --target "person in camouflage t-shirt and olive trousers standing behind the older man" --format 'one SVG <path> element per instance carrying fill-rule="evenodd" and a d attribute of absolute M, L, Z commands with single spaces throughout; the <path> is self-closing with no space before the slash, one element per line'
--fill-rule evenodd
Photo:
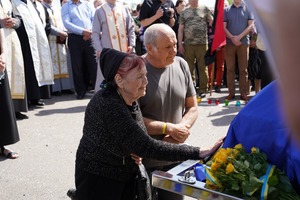
<path fill-rule="evenodd" d="M 195 81 L 195 59 L 199 73 L 199 93 L 207 90 L 207 68 L 204 55 L 207 50 L 207 22 L 212 20 L 211 11 L 206 6 L 186 8 L 182 11 L 179 24 L 184 25 L 184 58 L 188 62 L 190 71 Z"/>

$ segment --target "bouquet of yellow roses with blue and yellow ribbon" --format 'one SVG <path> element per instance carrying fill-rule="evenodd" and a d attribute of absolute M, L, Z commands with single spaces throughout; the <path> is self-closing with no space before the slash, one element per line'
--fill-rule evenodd
<path fill-rule="evenodd" d="M 266 154 L 241 144 L 222 148 L 206 163 L 206 187 L 245 199 L 299 199 L 288 177 Z"/>

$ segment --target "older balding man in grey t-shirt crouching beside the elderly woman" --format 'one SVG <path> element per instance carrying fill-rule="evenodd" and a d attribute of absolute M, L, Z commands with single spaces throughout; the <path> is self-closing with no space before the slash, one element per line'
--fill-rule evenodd
<path fill-rule="evenodd" d="M 197 116 L 197 99 L 189 66 L 177 57 L 176 35 L 166 24 L 154 24 L 145 32 L 148 71 L 146 96 L 140 107 L 148 134 L 158 140 L 183 143 Z M 168 170 L 177 163 L 145 159 L 149 172 Z M 181 195 L 158 190 L 159 199 L 183 199 Z"/>

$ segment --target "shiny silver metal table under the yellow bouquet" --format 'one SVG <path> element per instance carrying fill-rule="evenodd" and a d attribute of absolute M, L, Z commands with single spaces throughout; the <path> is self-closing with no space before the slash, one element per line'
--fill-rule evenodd
<path fill-rule="evenodd" d="M 194 197 L 196 199 L 241 200 L 240 198 L 205 188 L 205 183 L 197 181 L 195 175 L 190 173 L 192 171 L 191 169 L 193 169 L 197 163 L 199 163 L 199 160 L 187 160 L 167 172 L 155 171 L 152 174 L 152 185 L 163 190 Z"/>

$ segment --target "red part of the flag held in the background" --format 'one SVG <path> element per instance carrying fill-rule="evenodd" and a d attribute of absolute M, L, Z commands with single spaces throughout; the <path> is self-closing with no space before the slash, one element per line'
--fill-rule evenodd
<path fill-rule="evenodd" d="M 224 0 L 216 0 L 212 30 L 214 38 L 212 40 L 211 54 L 217 48 L 226 44 L 226 35 L 224 30 Z"/>

